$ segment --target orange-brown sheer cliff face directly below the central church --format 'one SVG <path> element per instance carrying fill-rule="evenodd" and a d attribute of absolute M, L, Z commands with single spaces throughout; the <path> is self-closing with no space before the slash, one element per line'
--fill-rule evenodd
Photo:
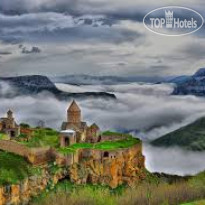
<path fill-rule="evenodd" d="M 115 151 L 81 150 L 79 163 L 70 168 L 70 180 L 76 184 L 102 184 L 115 188 L 132 185 L 145 178 L 141 144 Z M 87 157 L 86 157 L 87 156 Z"/>

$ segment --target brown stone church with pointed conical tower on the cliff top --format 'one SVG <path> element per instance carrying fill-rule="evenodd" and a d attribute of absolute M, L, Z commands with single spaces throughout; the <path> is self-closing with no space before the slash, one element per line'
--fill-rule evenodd
<path fill-rule="evenodd" d="M 63 122 L 61 130 L 61 135 L 65 137 L 67 133 L 70 136 L 69 140 L 72 139 L 72 143 L 62 141 L 64 146 L 80 142 L 96 143 L 100 140 L 100 128 L 95 123 L 88 126 L 86 122 L 82 121 L 81 109 L 75 100 L 67 110 L 67 122 Z"/>

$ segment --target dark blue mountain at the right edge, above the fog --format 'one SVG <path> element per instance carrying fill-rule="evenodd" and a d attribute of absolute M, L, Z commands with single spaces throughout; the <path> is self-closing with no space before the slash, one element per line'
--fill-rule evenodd
<path fill-rule="evenodd" d="M 199 69 L 192 76 L 181 76 L 173 79 L 176 87 L 174 95 L 205 96 L 205 68 Z"/>

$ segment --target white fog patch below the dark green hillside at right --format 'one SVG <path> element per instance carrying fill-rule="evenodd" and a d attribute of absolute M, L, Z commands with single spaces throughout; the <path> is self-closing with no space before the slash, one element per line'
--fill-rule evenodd
<path fill-rule="evenodd" d="M 205 152 L 185 151 L 180 148 L 157 148 L 144 144 L 146 168 L 151 172 L 195 175 L 205 170 Z"/>

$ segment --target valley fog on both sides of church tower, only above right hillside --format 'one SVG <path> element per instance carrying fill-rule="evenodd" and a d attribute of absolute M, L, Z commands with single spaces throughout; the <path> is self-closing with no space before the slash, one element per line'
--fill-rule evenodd
<path fill-rule="evenodd" d="M 194 96 L 170 96 L 170 85 L 58 86 L 68 92 L 112 92 L 117 101 L 79 100 L 84 119 L 97 122 L 102 129 L 137 132 L 144 139 L 153 139 L 205 115 L 204 99 Z M 8 88 L 7 88 L 8 90 Z M 38 106 L 36 106 L 38 104 Z M 49 106 L 48 106 L 49 104 Z M 16 110 L 19 121 L 35 124 L 44 119 L 47 126 L 60 128 L 68 102 L 39 95 L 1 99 L 1 113 L 8 107 Z M 40 111 L 39 111 L 40 109 Z M 3 112 L 3 113 L 2 113 Z"/>

